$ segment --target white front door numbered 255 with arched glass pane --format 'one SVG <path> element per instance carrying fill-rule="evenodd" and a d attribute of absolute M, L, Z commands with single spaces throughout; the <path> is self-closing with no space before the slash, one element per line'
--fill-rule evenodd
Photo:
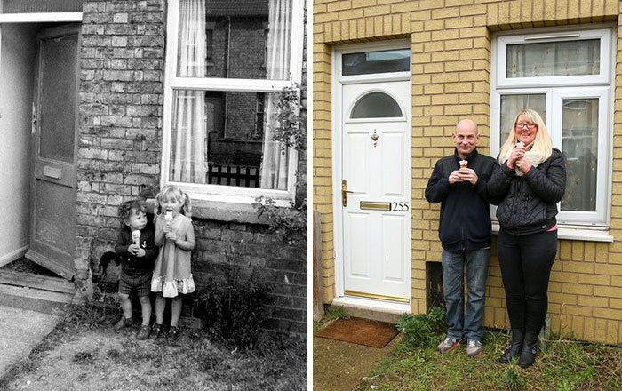
<path fill-rule="evenodd" d="M 411 82 L 341 89 L 344 294 L 409 302 Z"/>

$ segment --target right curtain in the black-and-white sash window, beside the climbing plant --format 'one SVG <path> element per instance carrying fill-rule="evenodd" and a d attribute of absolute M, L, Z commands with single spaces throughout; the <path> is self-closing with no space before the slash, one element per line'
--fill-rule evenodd
<path fill-rule="evenodd" d="M 291 51 L 291 0 L 269 0 L 270 15 L 267 33 L 267 78 L 287 80 L 290 78 Z M 277 124 L 275 115 L 277 93 L 266 94 L 264 147 L 261 159 L 259 186 L 261 188 L 287 189 L 288 151 L 282 144 L 273 141 Z"/>

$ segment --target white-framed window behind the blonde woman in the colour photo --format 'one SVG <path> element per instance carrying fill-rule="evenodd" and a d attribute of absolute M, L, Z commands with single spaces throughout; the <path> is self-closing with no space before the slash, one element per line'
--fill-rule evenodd
<path fill-rule="evenodd" d="M 565 158 L 566 192 L 558 205 L 562 224 L 608 224 L 611 36 L 611 28 L 550 28 L 519 36 L 504 32 L 493 39 L 490 153 L 498 154 L 518 111 L 538 111 Z"/>

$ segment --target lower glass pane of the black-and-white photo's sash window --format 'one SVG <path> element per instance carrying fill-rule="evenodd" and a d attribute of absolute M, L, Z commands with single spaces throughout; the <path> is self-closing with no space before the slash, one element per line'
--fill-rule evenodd
<path fill-rule="evenodd" d="M 272 140 L 278 95 L 175 92 L 170 180 L 287 189 L 289 152 Z"/>

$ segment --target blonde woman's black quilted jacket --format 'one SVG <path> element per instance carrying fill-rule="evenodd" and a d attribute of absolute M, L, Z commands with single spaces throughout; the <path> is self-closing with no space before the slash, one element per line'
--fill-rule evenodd
<path fill-rule="evenodd" d="M 557 203 L 562 201 L 565 190 L 566 165 L 562 152 L 555 148 L 553 155 L 520 177 L 506 164 L 497 165 L 488 182 L 489 194 L 500 200 L 498 223 L 504 232 L 514 236 L 554 227 Z"/>

